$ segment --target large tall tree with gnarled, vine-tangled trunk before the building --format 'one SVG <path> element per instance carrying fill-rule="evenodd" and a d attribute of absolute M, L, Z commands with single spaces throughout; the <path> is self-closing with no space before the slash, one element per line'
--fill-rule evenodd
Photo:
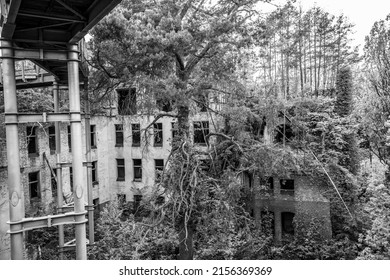
<path fill-rule="evenodd" d="M 193 162 L 199 161 L 193 161 L 189 137 L 191 103 L 205 90 L 234 84 L 238 50 L 261 32 L 253 26 L 256 2 L 127 0 L 92 32 L 92 65 L 98 69 L 92 91 L 102 98 L 122 83 L 143 93 L 140 105 L 145 109 L 156 92 L 174 103 L 176 113 L 169 115 L 177 117 L 178 133 L 167 176 L 175 179 L 163 186 L 177 211 L 181 259 L 193 257 L 202 196 L 202 185 L 193 176 L 199 168 Z"/>

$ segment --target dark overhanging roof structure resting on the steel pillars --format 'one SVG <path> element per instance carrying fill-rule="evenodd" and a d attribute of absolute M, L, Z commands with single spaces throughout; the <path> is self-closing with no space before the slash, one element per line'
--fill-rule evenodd
<path fill-rule="evenodd" d="M 78 43 L 120 1 L 0 0 L 1 37 L 19 48 L 63 51 L 68 44 Z M 64 61 L 33 62 L 60 82 L 67 80 Z"/>

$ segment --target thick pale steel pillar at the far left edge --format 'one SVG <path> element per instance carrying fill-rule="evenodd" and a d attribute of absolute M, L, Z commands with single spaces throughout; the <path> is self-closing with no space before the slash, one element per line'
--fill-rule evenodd
<path fill-rule="evenodd" d="M 15 61 L 12 42 L 2 39 L 2 69 L 4 85 L 4 113 L 13 122 L 5 124 L 8 160 L 8 191 L 10 221 L 18 222 L 24 218 L 23 188 L 20 180 L 19 135 L 17 122 L 17 99 L 15 82 Z M 21 227 L 21 226 L 20 226 Z M 21 228 L 19 228 L 21 230 Z M 11 259 L 23 259 L 23 232 L 11 234 Z"/>

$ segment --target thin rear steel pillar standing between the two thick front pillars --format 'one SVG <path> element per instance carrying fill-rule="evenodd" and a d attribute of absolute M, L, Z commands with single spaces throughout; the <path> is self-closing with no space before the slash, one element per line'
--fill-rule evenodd
<path fill-rule="evenodd" d="M 54 99 L 54 112 L 58 113 L 60 111 L 60 98 L 59 98 L 59 90 L 58 83 L 56 81 L 53 82 L 53 99 Z M 56 136 L 56 176 L 57 176 L 57 212 L 58 214 L 62 214 L 62 205 L 64 203 L 63 199 L 63 191 L 62 191 L 62 166 L 61 166 L 61 130 L 60 123 L 55 122 L 55 136 Z M 65 237 L 64 237 L 64 226 L 58 226 L 58 245 L 60 248 L 64 246 Z M 64 254 L 60 252 L 60 258 L 64 259 Z"/>

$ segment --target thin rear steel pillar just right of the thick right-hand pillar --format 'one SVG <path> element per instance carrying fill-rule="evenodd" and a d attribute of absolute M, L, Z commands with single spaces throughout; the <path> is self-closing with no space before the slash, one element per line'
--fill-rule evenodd
<path fill-rule="evenodd" d="M 89 244 L 95 242 L 94 220 L 93 220 L 93 193 L 92 193 L 92 158 L 91 158 L 91 112 L 88 97 L 88 83 L 84 82 L 85 95 L 85 139 L 87 158 L 87 188 L 88 188 L 88 238 Z"/>

